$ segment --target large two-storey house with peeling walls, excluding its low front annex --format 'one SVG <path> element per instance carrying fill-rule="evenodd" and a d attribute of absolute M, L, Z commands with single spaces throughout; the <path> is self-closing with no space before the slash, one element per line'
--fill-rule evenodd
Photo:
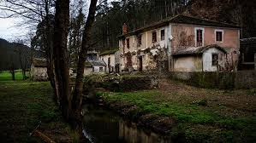
<path fill-rule="evenodd" d="M 173 56 L 177 51 L 212 44 L 217 44 L 227 52 L 223 61 L 226 67 L 223 69 L 236 70 L 240 48 L 238 26 L 177 15 L 133 32 L 127 33 L 125 26 L 123 30 L 123 35 L 119 37 L 120 65 L 123 71 L 153 70 L 163 66 L 165 61 L 168 62 L 169 71 L 174 71 Z M 198 61 L 194 58 L 190 60 Z M 206 67 L 205 71 L 216 71 Z"/>

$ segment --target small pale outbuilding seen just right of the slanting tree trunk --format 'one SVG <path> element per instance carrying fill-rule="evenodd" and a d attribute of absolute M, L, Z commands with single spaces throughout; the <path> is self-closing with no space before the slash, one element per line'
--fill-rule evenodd
<path fill-rule="evenodd" d="M 104 74 L 106 73 L 106 64 L 102 60 L 87 60 L 85 63 L 84 75 Z"/>

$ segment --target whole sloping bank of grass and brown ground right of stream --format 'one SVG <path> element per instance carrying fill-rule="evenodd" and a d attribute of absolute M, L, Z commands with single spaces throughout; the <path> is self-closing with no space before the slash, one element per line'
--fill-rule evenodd
<path fill-rule="evenodd" d="M 255 90 L 193 88 L 161 82 L 160 89 L 98 93 L 106 105 L 137 123 L 188 142 L 256 140 Z"/>

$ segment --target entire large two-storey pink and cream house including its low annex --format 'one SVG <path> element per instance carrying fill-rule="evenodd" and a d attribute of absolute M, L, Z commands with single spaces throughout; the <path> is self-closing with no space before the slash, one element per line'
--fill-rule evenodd
<path fill-rule="evenodd" d="M 161 63 L 170 72 L 232 71 L 238 63 L 240 27 L 180 14 L 131 32 L 124 24 L 119 47 L 122 71 L 154 70 Z"/>

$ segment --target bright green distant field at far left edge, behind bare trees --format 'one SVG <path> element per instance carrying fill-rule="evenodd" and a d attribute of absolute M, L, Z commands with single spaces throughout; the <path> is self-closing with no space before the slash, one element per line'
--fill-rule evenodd
<path fill-rule="evenodd" d="M 27 77 L 29 77 L 29 73 L 27 72 Z M 21 70 L 15 70 L 15 80 L 22 80 Z M 12 80 L 12 75 L 9 71 L 0 71 L 0 81 L 10 81 Z"/>

